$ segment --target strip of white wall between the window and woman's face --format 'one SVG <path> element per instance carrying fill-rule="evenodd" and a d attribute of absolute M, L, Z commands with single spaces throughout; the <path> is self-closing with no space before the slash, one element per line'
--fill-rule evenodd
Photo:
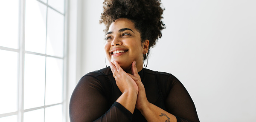
<path fill-rule="evenodd" d="M 105 26 L 99 24 L 103 0 L 83 0 L 82 72 L 102 69 L 105 66 Z"/>

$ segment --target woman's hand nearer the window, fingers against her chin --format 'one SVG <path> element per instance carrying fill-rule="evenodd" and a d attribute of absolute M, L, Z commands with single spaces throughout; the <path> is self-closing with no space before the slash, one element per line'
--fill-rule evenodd
<path fill-rule="evenodd" d="M 113 77 L 116 79 L 116 85 L 119 90 L 124 92 L 136 92 L 138 94 L 138 86 L 134 79 L 132 79 L 123 69 L 120 67 L 118 62 L 110 62 L 111 71 L 113 73 Z"/>

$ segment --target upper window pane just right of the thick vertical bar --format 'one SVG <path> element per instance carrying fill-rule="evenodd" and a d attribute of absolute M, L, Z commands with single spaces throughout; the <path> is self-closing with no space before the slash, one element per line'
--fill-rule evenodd
<path fill-rule="evenodd" d="M 26 0 L 25 50 L 45 54 L 47 7 L 36 0 Z"/>

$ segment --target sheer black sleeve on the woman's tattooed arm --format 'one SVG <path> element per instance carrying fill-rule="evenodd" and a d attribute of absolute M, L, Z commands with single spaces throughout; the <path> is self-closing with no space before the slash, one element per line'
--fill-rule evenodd
<path fill-rule="evenodd" d="M 186 88 L 174 76 L 169 76 L 169 84 L 166 89 L 169 93 L 166 98 L 166 109 L 176 116 L 177 122 L 199 122 L 195 104 Z"/>

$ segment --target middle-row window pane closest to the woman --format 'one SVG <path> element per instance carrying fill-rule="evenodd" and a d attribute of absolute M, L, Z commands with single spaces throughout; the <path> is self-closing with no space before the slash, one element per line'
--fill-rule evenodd
<path fill-rule="evenodd" d="M 63 60 L 47 57 L 45 105 L 62 102 Z"/>

